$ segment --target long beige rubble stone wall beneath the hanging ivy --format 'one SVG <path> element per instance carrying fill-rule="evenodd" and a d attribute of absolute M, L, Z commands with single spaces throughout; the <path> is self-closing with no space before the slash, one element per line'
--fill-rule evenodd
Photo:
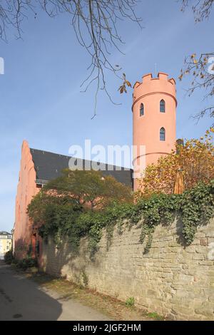
<path fill-rule="evenodd" d="M 103 230 L 93 262 L 88 239 L 81 240 L 76 257 L 68 243 L 56 247 L 43 242 L 41 268 L 97 292 L 175 320 L 214 320 L 214 220 L 198 229 L 193 243 L 184 247 L 180 223 L 158 226 L 148 254 L 139 242 L 141 229 L 117 226 L 110 247 Z"/>

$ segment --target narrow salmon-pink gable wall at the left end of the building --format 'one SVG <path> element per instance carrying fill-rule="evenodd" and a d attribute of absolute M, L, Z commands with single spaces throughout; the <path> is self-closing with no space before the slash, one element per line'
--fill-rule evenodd
<path fill-rule="evenodd" d="M 14 225 L 14 252 L 17 258 L 26 255 L 31 244 L 31 222 L 26 214 L 27 206 L 39 188 L 36 188 L 36 171 L 29 149 L 29 144 L 24 140 L 21 147 L 21 167 L 19 184 L 16 194 L 16 213 Z"/>

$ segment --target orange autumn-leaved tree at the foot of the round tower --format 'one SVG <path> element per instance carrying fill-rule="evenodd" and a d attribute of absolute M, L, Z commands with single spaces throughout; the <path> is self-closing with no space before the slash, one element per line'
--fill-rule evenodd
<path fill-rule="evenodd" d="M 178 170 L 183 171 L 185 190 L 198 182 L 208 183 L 214 179 L 213 133 L 214 128 L 210 128 L 198 140 L 177 144 L 176 151 L 159 158 L 156 165 L 148 165 L 139 182 L 136 198 L 153 193 L 173 194 Z"/>

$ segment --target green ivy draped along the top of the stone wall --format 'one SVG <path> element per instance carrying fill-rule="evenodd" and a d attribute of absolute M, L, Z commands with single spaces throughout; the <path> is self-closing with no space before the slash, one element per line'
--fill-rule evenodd
<path fill-rule="evenodd" d="M 214 216 L 214 180 L 209 184 L 199 182 L 182 195 L 153 194 L 141 197 L 136 204 L 112 202 L 105 210 L 86 210 L 71 202 L 63 205 L 55 202 L 44 210 L 45 223 L 39 228 L 39 234 L 45 239 L 51 235 L 56 244 L 67 238 L 76 252 L 81 237 L 87 236 L 93 257 L 103 229 L 106 229 L 108 249 L 114 227 L 117 226 L 118 233 L 122 234 L 123 225 L 139 225 L 140 242 L 145 242 L 144 253 L 147 253 L 156 227 L 170 225 L 175 216 L 183 223 L 183 240 L 188 245 L 193 242 L 197 227 L 205 225 Z M 34 220 L 32 215 L 31 219 Z"/>

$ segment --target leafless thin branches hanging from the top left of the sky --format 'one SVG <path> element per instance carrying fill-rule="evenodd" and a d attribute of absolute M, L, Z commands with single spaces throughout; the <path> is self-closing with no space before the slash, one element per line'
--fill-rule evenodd
<path fill-rule="evenodd" d="M 118 21 L 129 20 L 141 26 L 141 19 L 136 16 L 136 5 L 139 0 L 0 0 L 0 38 L 6 40 L 9 26 L 21 37 L 21 23 L 32 11 L 43 9 L 50 17 L 58 14 L 69 14 L 78 43 L 86 49 L 91 57 L 88 76 L 81 84 L 87 91 L 96 82 L 98 91 L 106 92 L 112 101 L 106 86 L 106 71 L 119 76 L 120 66 L 110 61 L 111 51 L 121 51 L 123 44 L 118 32 Z M 121 78 L 119 76 L 119 78 Z M 112 101 L 113 102 L 113 101 Z M 96 108 L 95 114 L 96 115 Z"/>

